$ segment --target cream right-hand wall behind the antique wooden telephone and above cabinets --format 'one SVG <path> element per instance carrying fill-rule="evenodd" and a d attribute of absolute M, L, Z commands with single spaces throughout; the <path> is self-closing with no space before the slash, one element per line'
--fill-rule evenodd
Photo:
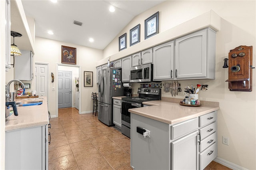
<path fill-rule="evenodd" d="M 253 69 L 252 92 L 229 91 L 228 69 L 222 68 L 228 52 L 239 45 L 254 46 L 253 65 L 256 65 L 256 1 L 166 1 L 136 16 L 104 49 L 104 58 L 118 53 L 118 37 L 141 24 L 140 40 L 144 40 L 144 20 L 160 12 L 160 32 L 173 28 L 196 16 L 213 10 L 221 19 L 216 34 L 216 79 L 179 81 L 186 85 L 207 84 L 209 90 L 200 91 L 199 99 L 217 101 L 218 111 L 218 157 L 247 169 L 256 169 L 256 73 Z M 127 41 L 129 47 L 129 41 Z M 133 83 L 133 93 L 139 84 Z M 163 97 L 172 97 L 162 92 Z M 182 96 L 176 96 L 182 98 Z M 229 146 L 222 144 L 222 136 L 229 138 Z"/>

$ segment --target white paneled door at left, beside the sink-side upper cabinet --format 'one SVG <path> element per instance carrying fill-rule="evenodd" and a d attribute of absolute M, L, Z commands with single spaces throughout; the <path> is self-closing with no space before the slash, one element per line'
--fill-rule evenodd
<path fill-rule="evenodd" d="M 35 64 L 34 74 L 37 95 L 46 96 L 48 99 L 48 65 Z"/>

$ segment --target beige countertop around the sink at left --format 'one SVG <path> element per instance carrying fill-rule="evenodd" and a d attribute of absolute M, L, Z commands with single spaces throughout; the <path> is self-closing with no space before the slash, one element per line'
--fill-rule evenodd
<path fill-rule="evenodd" d="M 49 124 L 47 97 L 16 99 L 15 101 L 43 101 L 43 103 L 42 105 L 17 107 L 18 116 L 12 114 L 7 118 L 5 131 Z"/>

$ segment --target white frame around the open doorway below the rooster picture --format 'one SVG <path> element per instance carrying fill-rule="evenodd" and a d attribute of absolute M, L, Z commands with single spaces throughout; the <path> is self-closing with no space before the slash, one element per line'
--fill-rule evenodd
<path fill-rule="evenodd" d="M 69 64 L 61 64 L 61 63 L 56 63 L 56 74 L 57 74 L 57 77 L 58 77 L 58 66 L 68 66 L 68 67 L 78 67 L 79 69 L 79 77 L 82 77 L 82 72 L 81 72 L 81 65 L 69 65 Z M 80 78 L 81 80 L 82 78 Z M 81 86 L 81 81 L 78 82 L 78 85 L 79 87 L 82 87 Z M 81 114 L 81 89 L 79 90 L 79 110 L 78 110 L 78 113 Z M 72 90 L 72 94 L 73 94 L 73 90 Z M 73 101 L 72 101 L 73 103 Z M 58 113 L 58 81 L 56 81 L 56 117 L 58 117 L 59 113 Z"/>

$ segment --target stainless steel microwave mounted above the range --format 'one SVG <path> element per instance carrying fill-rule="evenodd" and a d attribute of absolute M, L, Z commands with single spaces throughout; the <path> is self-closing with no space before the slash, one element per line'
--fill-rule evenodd
<path fill-rule="evenodd" d="M 153 64 L 145 64 L 130 69 L 130 82 L 150 82 L 153 79 Z"/>

